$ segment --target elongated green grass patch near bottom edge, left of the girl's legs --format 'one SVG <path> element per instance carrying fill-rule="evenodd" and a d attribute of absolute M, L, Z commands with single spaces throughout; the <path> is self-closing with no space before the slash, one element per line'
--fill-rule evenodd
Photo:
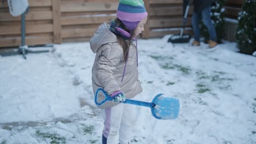
<path fill-rule="evenodd" d="M 43 133 L 39 130 L 36 131 L 36 135 L 38 137 L 42 137 L 43 139 L 50 139 L 51 144 L 61 144 L 61 143 L 66 143 L 66 138 L 63 136 L 60 136 L 59 134 L 50 134 L 50 133 Z"/>

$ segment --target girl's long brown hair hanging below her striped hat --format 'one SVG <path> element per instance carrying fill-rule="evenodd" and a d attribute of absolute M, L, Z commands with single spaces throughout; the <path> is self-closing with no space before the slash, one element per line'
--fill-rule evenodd
<path fill-rule="evenodd" d="M 125 40 L 123 37 L 121 37 L 120 35 L 118 34 L 115 34 L 117 36 L 117 39 L 118 39 L 118 43 L 121 44 L 121 46 L 123 47 L 123 51 L 124 51 L 124 61 L 127 62 L 127 59 L 128 59 L 128 55 L 127 53 L 129 52 L 129 47 L 131 46 L 132 44 L 132 38 L 135 36 L 135 31 L 136 31 L 136 28 L 133 29 L 132 31 L 130 31 L 124 24 L 123 22 L 121 22 L 118 18 L 114 20 L 115 23 L 117 24 L 118 27 L 122 27 L 124 28 L 124 30 L 128 33 L 131 34 L 131 37 L 128 39 L 128 40 Z"/>

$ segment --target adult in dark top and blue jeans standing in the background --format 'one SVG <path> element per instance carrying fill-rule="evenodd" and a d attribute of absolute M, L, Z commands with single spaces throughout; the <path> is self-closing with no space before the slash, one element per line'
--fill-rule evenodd
<path fill-rule="evenodd" d="M 191 2 L 190 0 L 184 0 L 188 2 Z M 193 17 L 192 17 L 192 26 L 193 26 L 193 32 L 195 35 L 195 40 L 193 41 L 193 46 L 200 46 L 200 22 L 201 20 L 205 24 L 205 26 L 208 29 L 208 33 L 210 35 L 209 40 L 209 49 L 212 49 L 216 45 L 218 45 L 217 41 L 217 34 L 216 30 L 213 26 L 212 19 L 211 19 L 211 4 L 214 2 L 214 0 L 194 0 L 194 11 L 193 11 Z"/>

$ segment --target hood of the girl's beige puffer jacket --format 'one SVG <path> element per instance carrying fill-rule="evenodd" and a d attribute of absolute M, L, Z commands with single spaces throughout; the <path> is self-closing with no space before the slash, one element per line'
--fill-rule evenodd
<path fill-rule="evenodd" d="M 118 43 L 117 36 L 109 30 L 110 25 L 104 22 L 100 25 L 90 40 L 92 52 L 96 53 L 98 49 L 107 43 Z"/>

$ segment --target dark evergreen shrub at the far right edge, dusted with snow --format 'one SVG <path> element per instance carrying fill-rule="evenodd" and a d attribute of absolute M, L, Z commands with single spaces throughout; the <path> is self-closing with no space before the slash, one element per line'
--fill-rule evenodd
<path fill-rule="evenodd" d="M 238 16 L 236 41 L 241 53 L 256 51 L 256 0 L 245 0 Z"/>

